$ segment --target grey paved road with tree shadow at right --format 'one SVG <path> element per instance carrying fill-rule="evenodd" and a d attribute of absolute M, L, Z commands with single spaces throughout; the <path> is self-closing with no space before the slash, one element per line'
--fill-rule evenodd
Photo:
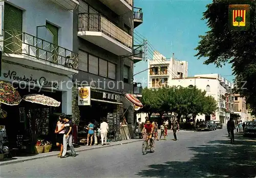
<path fill-rule="evenodd" d="M 169 134 L 156 141 L 156 152 L 142 155 L 142 142 L 79 152 L 0 167 L 1 177 L 255 177 L 255 139 L 226 130 Z"/>

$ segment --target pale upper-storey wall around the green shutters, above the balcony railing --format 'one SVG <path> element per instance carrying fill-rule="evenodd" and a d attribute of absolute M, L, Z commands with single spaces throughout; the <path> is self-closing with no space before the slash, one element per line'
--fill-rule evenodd
<path fill-rule="evenodd" d="M 37 26 L 46 21 L 59 27 L 58 45 L 73 50 L 73 13 L 50 0 L 7 0 L 6 2 L 24 10 L 23 32 L 36 36 Z M 1 5 L 4 3 L 1 2 Z"/>

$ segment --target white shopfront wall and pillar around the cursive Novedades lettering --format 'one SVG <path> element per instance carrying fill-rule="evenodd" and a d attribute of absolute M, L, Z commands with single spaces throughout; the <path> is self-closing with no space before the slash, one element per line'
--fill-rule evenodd
<path fill-rule="evenodd" d="M 26 79 L 36 79 L 37 84 L 36 87 L 40 87 L 39 80 L 41 77 L 44 77 L 48 82 L 58 82 L 58 91 L 63 91 L 62 92 L 62 112 L 66 114 L 72 114 L 72 102 L 71 102 L 71 97 L 72 97 L 72 87 L 73 87 L 73 82 L 70 78 L 66 76 L 61 76 L 61 75 L 56 75 L 53 73 L 48 73 L 45 71 L 40 71 L 40 70 L 34 70 L 30 68 L 25 68 L 20 65 L 14 65 L 14 64 L 8 64 L 3 62 L 2 63 L 2 77 L 0 77 L 1 81 L 6 81 L 6 82 L 13 82 L 17 77 L 19 77 L 21 80 Z M 8 76 L 8 72 L 15 71 L 16 75 Z M 15 77 L 14 77 L 15 76 Z M 13 80 L 14 79 L 14 80 Z M 40 80 L 42 82 L 42 79 Z M 62 81 L 62 83 L 61 83 Z M 31 89 L 33 89 L 34 85 L 29 83 L 29 82 L 20 82 L 20 80 L 16 83 L 20 83 L 23 85 L 31 86 Z M 43 87 L 44 88 L 44 87 Z M 49 88 L 47 88 L 49 89 Z M 54 90 L 54 89 L 53 89 Z"/>

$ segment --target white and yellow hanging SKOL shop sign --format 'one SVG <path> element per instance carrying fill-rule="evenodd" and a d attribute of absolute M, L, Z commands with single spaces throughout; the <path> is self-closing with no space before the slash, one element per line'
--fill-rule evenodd
<path fill-rule="evenodd" d="M 78 106 L 91 106 L 91 87 L 78 87 Z"/>

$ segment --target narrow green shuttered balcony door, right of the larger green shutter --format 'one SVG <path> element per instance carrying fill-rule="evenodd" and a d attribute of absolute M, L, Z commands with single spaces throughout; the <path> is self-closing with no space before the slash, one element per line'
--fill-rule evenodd
<path fill-rule="evenodd" d="M 51 55 L 53 63 L 58 63 L 58 31 L 59 28 L 54 26 L 51 23 L 46 22 L 46 28 L 52 33 L 53 35 L 53 44 L 51 44 Z M 48 56 L 48 55 L 47 55 Z M 61 61 L 61 64 L 66 61 Z M 65 63 L 64 63 L 65 64 Z"/>

